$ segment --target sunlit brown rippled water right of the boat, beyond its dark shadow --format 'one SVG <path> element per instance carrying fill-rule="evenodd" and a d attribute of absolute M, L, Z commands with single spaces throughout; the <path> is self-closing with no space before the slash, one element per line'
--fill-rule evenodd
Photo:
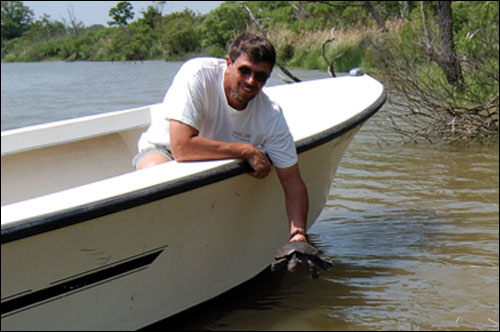
<path fill-rule="evenodd" d="M 498 329 L 497 151 L 393 145 L 374 155 L 367 136 L 353 142 L 315 231 L 346 264 L 394 269 L 350 275 L 370 303 L 369 319 L 349 307 L 355 321 Z"/>

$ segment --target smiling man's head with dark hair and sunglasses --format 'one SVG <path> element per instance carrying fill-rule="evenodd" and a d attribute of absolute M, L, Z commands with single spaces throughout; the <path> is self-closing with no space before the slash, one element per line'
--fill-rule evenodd
<path fill-rule="evenodd" d="M 238 36 L 226 57 L 224 91 L 229 104 L 244 109 L 266 84 L 275 62 L 276 52 L 269 40 L 249 33 Z"/>

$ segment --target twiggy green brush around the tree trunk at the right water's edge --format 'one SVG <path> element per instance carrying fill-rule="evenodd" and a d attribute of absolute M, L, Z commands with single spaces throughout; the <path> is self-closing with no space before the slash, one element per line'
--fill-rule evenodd
<path fill-rule="evenodd" d="M 411 21 L 379 36 L 370 48 L 373 74 L 386 82 L 391 102 L 398 106 L 388 120 L 407 139 L 485 142 L 498 138 L 498 2 L 456 2 L 453 13 L 462 88 L 450 84 L 424 51 L 426 43 L 439 45 L 433 15 L 426 15 L 427 33 L 416 10 Z"/>

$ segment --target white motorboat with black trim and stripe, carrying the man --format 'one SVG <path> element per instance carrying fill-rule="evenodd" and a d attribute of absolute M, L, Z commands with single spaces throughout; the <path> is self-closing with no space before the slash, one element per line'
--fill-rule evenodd
<path fill-rule="evenodd" d="M 309 191 L 385 102 L 368 75 L 268 88 Z M 133 330 L 254 277 L 288 240 L 282 188 L 241 160 L 134 171 L 156 105 L 2 133 L 2 330 Z"/>

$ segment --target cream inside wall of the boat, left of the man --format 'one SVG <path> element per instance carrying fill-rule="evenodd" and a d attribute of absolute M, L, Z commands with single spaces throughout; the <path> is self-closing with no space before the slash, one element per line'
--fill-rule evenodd
<path fill-rule="evenodd" d="M 137 140 L 147 129 L 149 107 L 142 113 L 142 123 L 132 128 L 91 134 L 89 128 L 106 125 L 99 121 L 105 119 L 85 118 L 79 120 L 81 128 L 86 128 L 85 135 L 75 135 L 71 126 L 62 128 L 71 137 L 64 144 L 46 141 L 24 151 L 23 147 L 21 151 L 2 148 L 2 206 L 134 171 L 131 161 L 137 153 Z M 9 139 L 33 142 L 30 131 L 39 130 L 29 127 L 12 133 Z"/>

